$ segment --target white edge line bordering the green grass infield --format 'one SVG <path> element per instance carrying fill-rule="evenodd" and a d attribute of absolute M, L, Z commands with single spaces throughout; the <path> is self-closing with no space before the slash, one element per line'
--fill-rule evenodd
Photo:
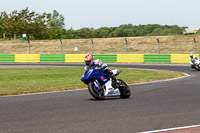
<path fill-rule="evenodd" d="M 129 68 L 129 69 L 142 69 L 142 68 Z M 143 69 L 143 70 L 153 70 L 153 71 L 162 71 L 158 69 Z M 173 72 L 173 71 L 172 71 Z M 158 81 L 150 81 L 150 82 L 143 82 L 143 83 L 136 83 L 136 84 L 128 84 L 131 86 L 136 86 L 136 85 L 143 85 L 143 84 L 151 84 L 151 83 L 158 83 L 158 82 L 165 82 L 165 81 L 172 81 L 172 80 L 177 80 L 177 79 L 182 79 L 189 77 L 190 75 L 187 73 L 183 73 L 185 76 L 183 77 L 178 77 L 178 78 L 172 78 L 172 79 L 167 79 L 167 80 L 158 80 Z M 81 90 L 86 90 L 87 88 L 83 89 L 74 89 L 74 90 L 64 90 L 64 91 L 51 91 L 51 92 L 41 92 L 41 93 L 30 93 L 30 94 L 20 94 L 20 95 L 10 95 L 10 96 L 0 96 L 2 97 L 20 97 L 20 96 L 32 96 L 32 95 L 41 95 L 41 94 L 51 94 L 51 93 L 59 93 L 59 92 L 69 92 L 69 91 L 81 91 Z"/>

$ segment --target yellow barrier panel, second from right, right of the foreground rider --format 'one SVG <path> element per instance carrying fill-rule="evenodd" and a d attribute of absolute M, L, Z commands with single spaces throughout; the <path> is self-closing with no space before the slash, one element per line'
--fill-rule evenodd
<path fill-rule="evenodd" d="M 118 54 L 117 63 L 144 63 L 143 54 Z"/>

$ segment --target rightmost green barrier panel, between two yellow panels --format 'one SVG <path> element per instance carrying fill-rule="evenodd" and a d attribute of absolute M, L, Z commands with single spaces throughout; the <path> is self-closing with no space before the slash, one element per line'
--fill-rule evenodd
<path fill-rule="evenodd" d="M 170 63 L 170 54 L 144 54 L 144 63 Z"/>

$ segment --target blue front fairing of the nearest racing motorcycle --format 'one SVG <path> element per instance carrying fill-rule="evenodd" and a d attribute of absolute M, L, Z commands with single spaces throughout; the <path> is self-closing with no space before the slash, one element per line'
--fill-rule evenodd
<path fill-rule="evenodd" d="M 97 71 L 95 70 L 96 66 L 92 66 L 81 78 L 81 81 L 83 81 L 85 84 L 88 84 L 89 81 L 93 81 L 93 79 L 98 79 L 103 84 L 107 83 L 109 81 L 109 76 L 103 73 L 101 70 Z M 98 84 L 98 83 L 97 83 Z"/>

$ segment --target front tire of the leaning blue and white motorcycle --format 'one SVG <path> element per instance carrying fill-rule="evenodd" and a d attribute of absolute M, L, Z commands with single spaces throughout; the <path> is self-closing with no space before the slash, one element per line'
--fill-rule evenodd
<path fill-rule="evenodd" d="M 104 100 L 105 96 L 104 96 L 104 89 L 97 89 L 95 84 L 93 82 L 89 82 L 88 84 L 88 90 L 90 92 L 90 94 L 97 100 Z"/>

